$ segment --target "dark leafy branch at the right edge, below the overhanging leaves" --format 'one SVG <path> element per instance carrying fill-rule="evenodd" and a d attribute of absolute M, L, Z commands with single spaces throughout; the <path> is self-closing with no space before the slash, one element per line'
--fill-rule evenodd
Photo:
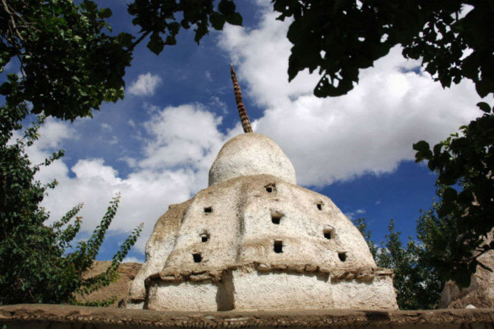
<path fill-rule="evenodd" d="M 413 145 L 416 161 L 428 160 L 429 169 L 438 173 L 436 183 L 444 186 L 438 218 L 456 229 L 456 237 L 441 231 L 431 237 L 433 255 L 442 275 L 463 287 L 477 265 L 483 266 L 477 257 L 494 248 L 483 240 L 494 226 L 494 113 L 486 103 L 478 106 L 485 114 L 460 127 L 461 134 L 452 134 L 432 150 L 424 141 Z M 444 246 L 451 254 L 444 254 Z"/>

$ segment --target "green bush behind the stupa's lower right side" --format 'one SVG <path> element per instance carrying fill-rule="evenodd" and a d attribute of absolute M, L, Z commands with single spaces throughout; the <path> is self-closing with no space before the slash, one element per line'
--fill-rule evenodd
<path fill-rule="evenodd" d="M 438 229 L 434 219 L 432 211 L 422 213 L 417 220 L 420 243 L 409 237 L 406 247 L 400 240 L 401 232 L 395 231 L 393 219 L 389 222 L 385 241 L 380 246 L 371 240 L 366 219 L 357 219 L 355 223 L 366 239 L 376 265 L 394 270 L 393 286 L 400 309 L 433 309 L 439 304 L 445 280 L 439 275 L 434 263 L 431 266 L 428 256 L 431 248 L 429 239 Z"/>

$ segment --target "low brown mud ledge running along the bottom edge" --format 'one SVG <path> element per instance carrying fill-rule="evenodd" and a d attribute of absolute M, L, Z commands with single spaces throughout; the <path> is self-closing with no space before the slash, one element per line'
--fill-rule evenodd
<path fill-rule="evenodd" d="M 493 309 L 272 312 L 157 312 L 108 307 L 20 304 L 0 306 L 0 328 L 493 328 Z"/>

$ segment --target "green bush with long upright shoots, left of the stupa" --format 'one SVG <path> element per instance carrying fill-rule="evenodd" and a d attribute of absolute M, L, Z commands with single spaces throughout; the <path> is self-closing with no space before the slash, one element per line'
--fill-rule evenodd
<path fill-rule="evenodd" d="M 110 202 L 91 238 L 79 242 L 75 251 L 66 255 L 81 228 L 81 218 L 72 223 L 71 219 L 82 204 L 52 225 L 44 224 L 48 214 L 39 204 L 56 181 L 43 185 L 35 181 L 34 175 L 41 166 L 60 158 L 63 151 L 53 153 L 40 165 L 31 166 L 25 148 L 38 139 L 43 117 L 25 131 L 22 139 L 7 143 L 13 129 L 20 128 L 19 118 L 26 112 L 26 107 L 0 108 L 0 305 L 72 302 L 74 293 L 90 293 L 116 278 L 118 266 L 135 243 L 142 224 L 125 240 L 105 273 L 82 279 L 116 214 L 120 195 Z"/>

